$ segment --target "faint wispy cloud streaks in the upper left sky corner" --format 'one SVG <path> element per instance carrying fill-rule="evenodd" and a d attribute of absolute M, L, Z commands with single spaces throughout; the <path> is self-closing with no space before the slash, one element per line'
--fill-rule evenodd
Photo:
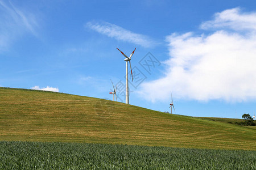
<path fill-rule="evenodd" d="M 25 32 L 36 36 L 36 28 L 38 22 L 34 14 L 19 9 L 11 1 L 0 0 L 0 51 Z"/>

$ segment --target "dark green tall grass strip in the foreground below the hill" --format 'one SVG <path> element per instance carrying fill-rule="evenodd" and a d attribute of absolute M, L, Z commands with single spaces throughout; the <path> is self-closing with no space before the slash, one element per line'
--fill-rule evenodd
<path fill-rule="evenodd" d="M 256 169 L 256 151 L 0 142 L 0 169 Z"/>

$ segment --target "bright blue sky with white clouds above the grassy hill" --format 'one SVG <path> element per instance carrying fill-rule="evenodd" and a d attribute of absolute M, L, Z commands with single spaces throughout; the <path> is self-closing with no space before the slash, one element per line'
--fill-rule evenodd
<path fill-rule="evenodd" d="M 255 1 L 0 0 L 0 86 L 241 118 L 256 111 Z M 129 69 L 130 71 L 130 69 Z M 130 76 L 130 75 L 129 75 Z"/>

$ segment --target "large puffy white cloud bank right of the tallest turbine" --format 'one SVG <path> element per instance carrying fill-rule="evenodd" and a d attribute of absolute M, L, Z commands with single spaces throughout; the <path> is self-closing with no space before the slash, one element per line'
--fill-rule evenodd
<path fill-rule="evenodd" d="M 171 91 L 176 98 L 200 101 L 256 99 L 256 13 L 242 14 L 235 8 L 215 16 L 232 18 L 232 11 L 236 14 L 232 23 L 237 23 L 237 27 L 247 25 L 249 34 L 241 29 L 234 31 L 233 24 L 226 19 L 219 22 L 222 30 L 210 35 L 188 32 L 167 36 L 170 59 L 165 62 L 168 66 L 166 74 L 143 83 L 139 93 L 151 101 L 170 99 Z M 244 19 L 243 22 L 240 18 Z M 218 17 L 205 23 L 217 28 L 216 20 Z M 205 29 L 210 27 L 205 25 Z"/>

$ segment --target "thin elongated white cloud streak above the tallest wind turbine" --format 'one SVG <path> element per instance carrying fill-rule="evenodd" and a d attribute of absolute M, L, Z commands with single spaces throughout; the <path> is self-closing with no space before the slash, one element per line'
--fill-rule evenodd
<path fill-rule="evenodd" d="M 85 24 L 85 27 L 93 29 L 94 31 L 97 31 L 99 33 L 102 33 L 103 35 L 112 37 L 114 39 L 131 42 L 144 47 L 151 47 L 156 45 L 156 42 L 151 40 L 148 36 L 131 32 L 115 24 L 110 24 L 107 22 L 103 22 L 103 23 L 88 22 Z"/>

